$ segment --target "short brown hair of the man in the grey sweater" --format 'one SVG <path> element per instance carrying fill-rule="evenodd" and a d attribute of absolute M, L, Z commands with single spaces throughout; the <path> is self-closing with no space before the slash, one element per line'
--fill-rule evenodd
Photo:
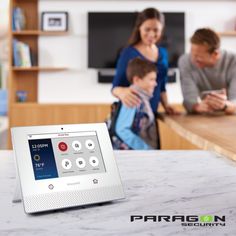
<path fill-rule="evenodd" d="M 220 48 L 220 37 L 210 28 L 196 30 L 190 41 L 193 44 L 206 45 L 210 54 Z"/>

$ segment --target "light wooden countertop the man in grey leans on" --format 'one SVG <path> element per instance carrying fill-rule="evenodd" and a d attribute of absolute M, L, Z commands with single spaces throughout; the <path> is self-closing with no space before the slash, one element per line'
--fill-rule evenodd
<path fill-rule="evenodd" d="M 215 151 L 236 161 L 236 116 L 221 113 L 180 115 L 162 116 L 161 120 L 196 147 Z"/>

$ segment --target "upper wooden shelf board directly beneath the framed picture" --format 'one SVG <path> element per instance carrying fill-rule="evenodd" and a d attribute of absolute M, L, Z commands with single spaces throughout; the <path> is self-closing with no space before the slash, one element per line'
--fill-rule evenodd
<path fill-rule="evenodd" d="M 41 31 L 41 30 L 22 30 L 12 32 L 13 36 L 63 36 L 68 35 L 68 32 L 58 32 L 58 31 Z"/>

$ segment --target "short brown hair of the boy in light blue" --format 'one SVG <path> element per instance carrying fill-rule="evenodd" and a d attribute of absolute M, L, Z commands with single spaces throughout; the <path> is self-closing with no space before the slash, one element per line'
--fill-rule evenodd
<path fill-rule="evenodd" d="M 145 77 L 150 72 L 156 72 L 157 68 L 154 63 L 142 60 L 139 57 L 136 57 L 129 61 L 126 75 L 128 81 L 132 84 L 134 76 L 138 76 L 139 78 Z"/>

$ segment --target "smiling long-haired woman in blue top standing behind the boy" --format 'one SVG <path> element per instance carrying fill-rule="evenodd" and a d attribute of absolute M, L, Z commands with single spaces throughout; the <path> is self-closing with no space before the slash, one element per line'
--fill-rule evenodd
<path fill-rule="evenodd" d="M 159 101 L 161 101 L 168 114 L 175 114 L 175 110 L 168 104 L 166 95 L 166 81 L 168 70 L 167 51 L 158 47 L 164 27 L 164 15 L 155 8 L 147 8 L 139 13 L 134 30 L 128 42 L 128 47 L 122 50 L 113 80 L 112 93 L 128 107 L 137 106 L 140 103 L 135 91 L 129 86 L 126 77 L 126 68 L 129 60 L 140 57 L 153 62 L 158 71 L 158 85 L 150 100 L 153 112 L 156 114 Z"/>

